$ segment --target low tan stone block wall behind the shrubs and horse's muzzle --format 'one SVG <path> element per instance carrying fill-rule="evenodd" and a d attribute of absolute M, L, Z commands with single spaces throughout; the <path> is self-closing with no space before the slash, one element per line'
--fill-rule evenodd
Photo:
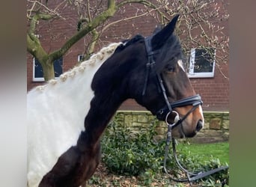
<path fill-rule="evenodd" d="M 132 128 L 133 131 L 147 130 L 148 123 L 156 121 L 156 139 L 165 139 L 167 126 L 165 122 L 156 120 L 149 111 L 118 111 L 113 120 L 124 125 L 124 128 Z M 229 139 L 229 113 L 228 112 L 204 112 L 204 129 L 194 138 L 187 138 L 190 142 L 219 142 Z"/>

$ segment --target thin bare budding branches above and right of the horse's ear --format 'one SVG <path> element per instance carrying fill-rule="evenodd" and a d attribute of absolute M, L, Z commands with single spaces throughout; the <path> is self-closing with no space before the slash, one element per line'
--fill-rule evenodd
<path fill-rule="evenodd" d="M 177 35 L 182 38 L 182 46 L 186 56 L 190 55 L 192 48 L 205 49 L 215 59 L 216 66 L 222 73 L 222 63 L 228 62 L 229 54 L 228 28 L 224 26 L 229 17 L 228 1 L 157 1 L 162 4 L 162 12 L 168 15 L 165 18 L 180 13 Z M 224 73 L 222 75 L 228 78 Z"/>

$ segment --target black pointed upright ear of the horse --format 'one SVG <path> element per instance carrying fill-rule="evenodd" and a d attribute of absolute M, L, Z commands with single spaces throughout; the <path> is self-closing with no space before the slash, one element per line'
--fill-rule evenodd
<path fill-rule="evenodd" d="M 166 40 L 168 40 L 168 37 L 170 37 L 171 34 L 174 32 L 174 28 L 179 16 L 179 14 L 174 16 L 174 18 L 171 19 L 171 22 L 169 22 L 168 25 L 166 25 L 159 32 L 153 35 L 151 39 L 151 45 L 153 47 L 153 50 L 159 49 L 166 42 Z"/>

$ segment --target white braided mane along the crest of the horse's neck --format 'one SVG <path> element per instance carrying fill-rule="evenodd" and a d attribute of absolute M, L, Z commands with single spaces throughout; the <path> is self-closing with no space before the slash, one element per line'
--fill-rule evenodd
<path fill-rule="evenodd" d="M 39 85 L 34 89 L 37 91 L 43 91 L 48 85 L 56 85 L 61 84 L 62 82 L 66 82 L 67 79 L 74 78 L 78 73 L 83 73 L 88 66 L 95 66 L 97 64 L 103 64 L 107 58 L 109 58 L 115 50 L 121 45 L 121 43 L 111 43 L 109 46 L 103 47 L 100 49 L 100 52 L 97 54 L 91 55 L 91 57 L 87 61 L 82 61 L 81 64 L 76 65 L 73 69 L 68 70 L 65 73 L 62 73 L 57 79 L 51 79 L 46 82 L 45 85 Z"/>

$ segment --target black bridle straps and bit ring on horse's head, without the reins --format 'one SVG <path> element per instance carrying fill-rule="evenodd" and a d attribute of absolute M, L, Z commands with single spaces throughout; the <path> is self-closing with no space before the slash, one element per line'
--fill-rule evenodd
<path fill-rule="evenodd" d="M 145 48 L 147 51 L 147 66 L 146 66 L 147 70 L 146 70 L 146 76 L 145 76 L 145 80 L 144 80 L 142 96 L 144 96 L 144 94 L 146 93 L 146 90 L 147 90 L 147 82 L 148 82 L 150 70 L 156 64 L 156 62 L 153 59 L 153 55 L 158 53 L 158 51 L 153 52 L 153 50 L 152 50 L 151 38 L 152 37 L 146 37 L 144 39 Z M 182 106 L 186 106 L 186 105 L 192 105 L 192 109 L 189 110 L 187 112 L 187 114 L 182 119 L 176 120 L 175 123 L 171 126 L 171 128 L 174 128 L 175 126 L 178 126 L 180 123 L 182 123 L 183 120 L 185 120 L 186 117 L 192 111 L 195 110 L 195 108 L 197 108 L 199 105 L 202 105 L 202 103 L 203 103 L 201 100 L 201 96 L 198 94 L 195 96 L 189 96 L 184 99 L 177 100 L 175 102 L 169 102 L 166 91 L 165 91 L 165 86 L 163 85 L 162 77 L 159 73 L 156 73 L 156 85 L 157 85 L 159 93 L 162 93 L 162 95 L 165 99 L 165 103 L 166 103 L 166 105 L 163 108 L 159 109 L 159 111 L 156 112 L 156 117 L 159 120 L 165 120 L 165 122 L 168 123 L 168 121 L 167 121 L 168 116 L 172 113 L 175 113 L 177 115 L 177 118 L 179 118 L 177 112 L 173 111 L 172 108 L 182 107 Z"/>

